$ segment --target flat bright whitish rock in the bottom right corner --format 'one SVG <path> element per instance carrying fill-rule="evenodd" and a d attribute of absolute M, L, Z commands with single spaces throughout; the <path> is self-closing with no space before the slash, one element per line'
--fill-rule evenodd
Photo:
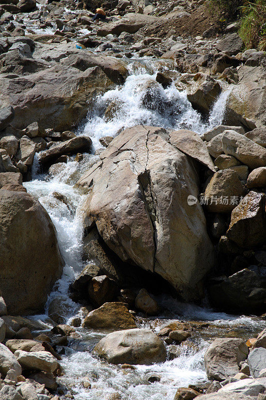
<path fill-rule="evenodd" d="M 218 390 L 218 393 L 227 392 L 231 398 L 231 393 L 245 394 L 257 398 L 259 393 L 266 390 L 266 378 L 242 379 L 237 382 L 228 383 Z"/>

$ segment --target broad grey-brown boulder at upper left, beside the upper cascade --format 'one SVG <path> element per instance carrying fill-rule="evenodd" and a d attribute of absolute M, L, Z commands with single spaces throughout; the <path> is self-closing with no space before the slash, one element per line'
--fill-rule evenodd
<path fill-rule="evenodd" d="M 40 130 L 53 127 L 56 131 L 77 125 L 87 114 L 89 100 L 114 87 L 98 66 L 79 72 L 62 65 L 12 79 L 4 75 L 0 85 L 0 108 L 15 104 L 15 128 L 37 120 Z"/>

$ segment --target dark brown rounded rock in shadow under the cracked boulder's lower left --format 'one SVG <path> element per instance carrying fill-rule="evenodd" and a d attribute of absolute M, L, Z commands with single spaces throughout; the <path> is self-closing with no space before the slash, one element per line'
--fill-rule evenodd
<path fill-rule="evenodd" d="M 112 301 L 116 292 L 115 281 L 106 275 L 93 277 L 88 285 L 89 297 L 97 305 Z"/>

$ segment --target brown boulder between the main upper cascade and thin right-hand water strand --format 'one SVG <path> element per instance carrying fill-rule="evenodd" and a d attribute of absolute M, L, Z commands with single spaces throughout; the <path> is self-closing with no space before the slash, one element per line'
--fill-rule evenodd
<path fill-rule="evenodd" d="M 220 83 L 209 75 L 193 93 L 188 93 L 188 99 L 192 106 L 201 112 L 209 112 L 214 101 L 221 92 Z"/>

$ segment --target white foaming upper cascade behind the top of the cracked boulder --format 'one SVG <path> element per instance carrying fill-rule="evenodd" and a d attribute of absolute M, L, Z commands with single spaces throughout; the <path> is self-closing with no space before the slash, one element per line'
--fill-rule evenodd
<path fill-rule="evenodd" d="M 131 69 L 133 66 L 131 65 Z M 138 125 L 162 126 L 170 129 L 192 129 L 201 134 L 220 124 L 230 89 L 222 91 L 208 120 L 203 120 L 187 99 L 187 92 L 175 84 L 163 88 L 156 73 L 140 65 L 129 75 L 123 86 L 99 95 L 79 132 L 91 137 L 94 150 L 103 136 L 115 136 L 121 130 Z"/>

